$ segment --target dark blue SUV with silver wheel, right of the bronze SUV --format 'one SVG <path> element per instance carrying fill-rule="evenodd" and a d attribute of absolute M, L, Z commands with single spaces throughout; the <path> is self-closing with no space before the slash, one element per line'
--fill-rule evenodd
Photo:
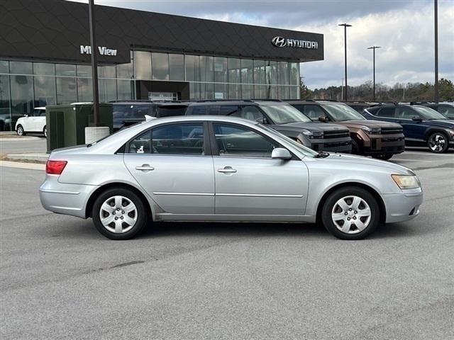
<path fill-rule="evenodd" d="M 408 146 L 427 146 L 441 153 L 454 147 L 454 121 L 437 111 L 421 105 L 388 104 L 366 108 L 367 119 L 398 123 L 404 127 Z"/>

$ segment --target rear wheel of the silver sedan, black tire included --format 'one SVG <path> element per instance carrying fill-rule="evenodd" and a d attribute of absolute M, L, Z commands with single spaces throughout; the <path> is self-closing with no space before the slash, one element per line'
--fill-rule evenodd
<path fill-rule="evenodd" d="M 108 208 L 107 205 L 111 207 Z M 104 217 L 103 221 L 101 215 Z M 92 217 L 94 226 L 105 237 L 132 239 L 147 224 L 148 209 L 133 191 L 127 188 L 111 188 L 94 201 Z"/>

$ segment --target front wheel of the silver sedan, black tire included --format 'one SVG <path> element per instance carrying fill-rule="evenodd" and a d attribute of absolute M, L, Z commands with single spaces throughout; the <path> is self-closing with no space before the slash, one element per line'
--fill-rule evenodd
<path fill-rule="evenodd" d="M 353 198 L 355 198 L 354 202 Z M 359 204 L 356 202 L 359 202 Z M 341 208 L 339 203 L 344 205 L 344 208 Z M 368 213 L 367 207 L 369 208 Z M 338 239 L 364 239 L 380 223 L 380 206 L 375 197 L 363 188 L 355 186 L 339 188 L 331 193 L 323 204 L 321 220 L 328 232 Z M 357 227 L 356 221 L 361 222 L 361 226 L 358 225 Z M 345 223 L 350 223 L 349 227 Z"/>

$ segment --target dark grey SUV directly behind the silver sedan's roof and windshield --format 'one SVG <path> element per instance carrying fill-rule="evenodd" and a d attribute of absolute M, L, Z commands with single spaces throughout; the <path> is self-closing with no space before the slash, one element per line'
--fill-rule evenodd
<path fill-rule="evenodd" d="M 282 101 L 201 101 L 190 103 L 187 115 L 231 115 L 255 120 L 315 151 L 351 152 L 348 129 L 336 124 L 312 123 Z"/>

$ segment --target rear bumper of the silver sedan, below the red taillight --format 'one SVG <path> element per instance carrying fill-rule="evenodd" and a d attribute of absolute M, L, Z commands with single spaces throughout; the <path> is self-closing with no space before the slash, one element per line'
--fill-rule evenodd
<path fill-rule="evenodd" d="M 88 199 L 99 187 L 60 183 L 58 177 L 58 175 L 47 175 L 40 186 L 40 200 L 43 208 L 57 214 L 87 218 L 85 209 Z"/>

